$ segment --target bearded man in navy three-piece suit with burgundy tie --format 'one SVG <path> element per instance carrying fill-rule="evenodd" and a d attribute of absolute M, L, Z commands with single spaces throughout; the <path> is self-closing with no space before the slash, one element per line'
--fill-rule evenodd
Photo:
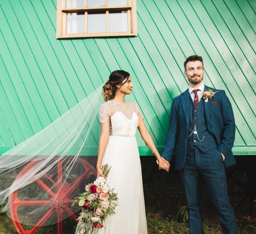
<path fill-rule="evenodd" d="M 162 157 L 170 161 L 177 145 L 175 169 L 180 171 L 186 192 L 190 233 L 204 233 L 203 179 L 223 233 L 236 234 L 236 218 L 229 202 L 224 168 L 224 165 L 228 167 L 236 163 L 231 152 L 235 140 L 235 119 L 231 103 L 224 90 L 204 85 L 201 56 L 189 56 L 184 62 L 184 68 L 189 88 L 172 101 Z"/>

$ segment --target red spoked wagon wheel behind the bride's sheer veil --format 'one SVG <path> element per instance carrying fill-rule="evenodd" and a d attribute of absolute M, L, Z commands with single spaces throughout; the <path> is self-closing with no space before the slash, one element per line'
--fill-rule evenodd
<path fill-rule="evenodd" d="M 66 157 L 65 159 L 67 159 Z M 66 216 L 71 216 L 76 222 L 77 216 L 74 214 L 75 212 L 72 211 L 70 205 L 73 203 L 74 196 L 77 196 L 81 191 L 78 189 L 79 185 L 84 182 L 87 176 L 94 176 L 96 177 L 97 172 L 94 167 L 88 163 L 87 161 L 77 158 L 75 163 L 79 163 L 80 167 L 83 168 L 83 172 L 77 176 L 77 178 L 73 178 L 73 181 L 66 180 L 64 183 L 61 180 L 62 174 L 65 173 L 63 168 L 65 159 L 59 160 L 57 162 L 57 173 L 55 173 L 55 178 L 52 178 L 51 175 L 45 174 L 41 178 L 35 180 L 33 183 L 37 183 L 40 189 L 43 189 L 47 195 L 47 200 L 20 200 L 19 199 L 19 190 L 16 190 L 14 193 L 11 194 L 10 199 L 10 213 L 13 220 L 13 224 L 15 228 L 18 230 L 20 234 L 33 234 L 35 233 L 39 227 L 41 227 L 53 214 L 57 213 L 57 220 L 58 220 L 58 234 L 62 233 L 62 220 L 63 215 L 65 213 Z M 19 173 L 17 179 L 21 177 L 22 174 L 29 171 L 29 169 L 33 168 L 39 161 L 32 161 L 29 162 Z M 54 179 L 59 181 L 57 184 L 55 183 Z M 55 187 L 55 191 L 51 190 L 45 180 L 48 180 L 48 183 L 52 183 Z M 86 181 L 86 183 L 89 181 Z M 91 182 L 91 181 L 90 181 Z M 85 183 L 82 184 L 83 187 Z M 51 187 L 51 186 L 50 186 Z M 56 193 L 57 191 L 57 193 Z M 76 193 L 74 193 L 76 192 Z M 24 227 L 20 223 L 19 212 L 18 209 L 20 207 L 35 207 L 35 206 L 49 206 L 47 212 L 40 217 L 39 221 L 34 225 L 34 227 L 30 230 L 25 230 Z M 68 214 L 68 215 L 67 215 Z"/>

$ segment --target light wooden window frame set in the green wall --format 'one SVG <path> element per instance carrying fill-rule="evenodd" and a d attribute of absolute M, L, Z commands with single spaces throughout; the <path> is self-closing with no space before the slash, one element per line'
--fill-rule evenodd
<path fill-rule="evenodd" d="M 66 8 L 66 0 L 57 0 L 57 22 L 56 38 L 105 38 L 121 36 L 137 36 L 137 9 L 136 0 L 127 0 L 127 6 L 108 6 L 108 0 L 105 0 L 104 7 L 86 7 Z M 93 11 L 106 11 L 106 32 L 87 33 L 87 13 Z M 128 32 L 108 32 L 109 31 L 109 11 L 127 11 Z M 85 33 L 66 33 L 67 13 L 85 12 Z"/>

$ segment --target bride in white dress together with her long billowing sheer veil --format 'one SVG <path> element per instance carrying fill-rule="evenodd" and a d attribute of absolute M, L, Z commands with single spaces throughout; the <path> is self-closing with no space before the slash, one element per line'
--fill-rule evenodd
<path fill-rule="evenodd" d="M 124 99 L 132 87 L 129 73 L 112 72 L 103 86 L 105 103 L 99 87 L 49 126 L 1 155 L 0 205 L 7 201 L 2 212 L 13 219 L 17 229 L 23 229 L 22 223 L 37 230 L 60 223 L 77 211 L 77 206 L 67 204 L 80 190 L 78 185 L 87 180 L 85 176 L 94 175 L 94 157 L 89 155 L 91 148 L 98 147 L 97 177 L 103 176 L 101 165 L 108 163 L 107 183 L 119 198 L 116 214 L 106 219 L 106 229 L 99 233 L 147 233 L 137 128 L 156 156 L 159 169 L 169 171 L 170 165 L 159 155 L 137 103 Z M 99 127 L 95 121 L 98 109 L 99 144 L 94 137 Z"/>

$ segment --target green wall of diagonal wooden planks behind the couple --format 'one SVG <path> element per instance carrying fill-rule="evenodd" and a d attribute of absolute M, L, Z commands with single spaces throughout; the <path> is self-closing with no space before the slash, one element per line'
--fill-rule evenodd
<path fill-rule="evenodd" d="M 183 62 L 203 56 L 204 83 L 224 89 L 236 119 L 233 152 L 256 154 L 256 1 L 137 0 L 134 38 L 57 40 L 56 0 L 0 0 L 0 153 L 76 105 L 111 71 L 134 85 L 161 148 L 172 99 L 188 82 Z M 138 135 L 141 155 L 150 155 Z"/>

